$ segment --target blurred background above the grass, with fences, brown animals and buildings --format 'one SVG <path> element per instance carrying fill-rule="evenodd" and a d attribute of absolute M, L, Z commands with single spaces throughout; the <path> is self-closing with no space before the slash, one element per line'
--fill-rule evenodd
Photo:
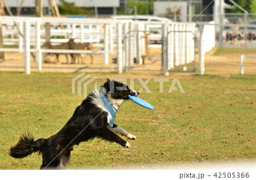
<path fill-rule="evenodd" d="M 2 0 L 0 14 L 1 70 L 256 74 L 255 0 Z"/>

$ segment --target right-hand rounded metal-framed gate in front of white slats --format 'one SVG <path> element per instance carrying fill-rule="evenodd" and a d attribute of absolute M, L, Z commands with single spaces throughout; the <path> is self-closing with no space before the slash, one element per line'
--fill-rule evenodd
<path fill-rule="evenodd" d="M 162 30 L 163 73 L 196 71 L 196 36 L 193 27 L 163 25 Z"/>

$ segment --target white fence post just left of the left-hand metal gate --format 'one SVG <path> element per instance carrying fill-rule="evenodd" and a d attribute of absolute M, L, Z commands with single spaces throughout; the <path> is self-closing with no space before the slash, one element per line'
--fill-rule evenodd
<path fill-rule="evenodd" d="M 122 24 L 117 23 L 117 72 L 123 72 Z"/>

